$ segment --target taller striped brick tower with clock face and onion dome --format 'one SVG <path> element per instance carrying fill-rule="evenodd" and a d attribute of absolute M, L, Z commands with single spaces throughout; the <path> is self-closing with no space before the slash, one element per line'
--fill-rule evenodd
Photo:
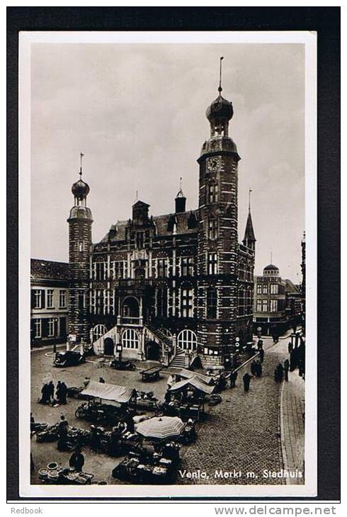
<path fill-rule="evenodd" d="M 207 108 L 210 138 L 198 164 L 198 345 L 203 365 L 223 364 L 235 342 L 238 315 L 237 166 L 229 137 L 232 103 L 218 96 Z"/>

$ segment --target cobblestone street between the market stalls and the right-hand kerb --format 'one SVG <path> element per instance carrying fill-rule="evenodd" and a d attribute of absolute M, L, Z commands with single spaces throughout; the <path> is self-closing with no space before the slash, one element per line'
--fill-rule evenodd
<path fill-rule="evenodd" d="M 194 479 L 195 484 L 283 484 L 283 479 L 263 477 L 263 470 L 279 472 L 283 468 L 278 432 L 280 386 L 273 380 L 283 351 L 278 351 L 278 345 L 271 346 L 270 340 L 265 343 L 262 377 L 252 378 L 245 393 L 242 376 L 249 365 L 239 370 L 237 386 L 222 393 L 222 403 L 211 408 L 198 440 L 184 451 L 182 473 L 200 470 L 209 476 Z M 234 470 L 241 476 L 227 475 Z M 226 472 L 226 477 L 215 477 L 220 471 Z M 178 475 L 177 482 L 191 484 L 192 479 Z"/>

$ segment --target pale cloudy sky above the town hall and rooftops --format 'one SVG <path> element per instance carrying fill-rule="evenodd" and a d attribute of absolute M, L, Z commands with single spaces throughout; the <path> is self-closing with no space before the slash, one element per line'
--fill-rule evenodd
<path fill-rule="evenodd" d="M 305 48 L 299 44 L 35 43 L 31 61 L 31 256 L 68 260 L 71 186 L 91 192 L 93 242 L 131 217 L 174 212 L 182 177 L 198 207 L 198 164 L 210 136 L 207 106 L 232 101 L 239 162 L 239 241 L 251 194 L 256 268 L 301 280 L 305 230 Z"/>

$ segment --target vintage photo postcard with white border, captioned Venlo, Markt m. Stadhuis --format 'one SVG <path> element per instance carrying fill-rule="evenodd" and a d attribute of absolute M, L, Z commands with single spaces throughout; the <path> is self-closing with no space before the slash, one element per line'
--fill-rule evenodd
<path fill-rule="evenodd" d="M 316 36 L 20 33 L 21 496 L 317 494 Z"/>

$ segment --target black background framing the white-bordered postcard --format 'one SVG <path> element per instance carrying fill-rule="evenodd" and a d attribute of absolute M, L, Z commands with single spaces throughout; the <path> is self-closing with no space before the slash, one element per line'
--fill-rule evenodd
<path fill-rule="evenodd" d="M 7 8 L 7 497 L 18 492 L 19 30 L 314 30 L 318 35 L 318 496 L 340 498 L 340 8 Z M 21 343 L 19 343 L 20 345 Z M 181 498 L 183 499 L 183 498 Z M 196 498 L 184 498 L 186 502 Z M 218 498 L 214 500 L 217 501 Z M 225 497 L 220 499 L 227 499 Z M 243 500 L 246 498 L 230 498 Z M 251 498 L 266 501 L 266 498 Z M 276 498 L 267 498 L 276 499 Z M 285 501 L 292 498 L 277 498 Z M 305 500 L 305 498 L 296 498 Z M 312 499 L 312 498 L 309 498 Z M 66 499 L 53 499 L 63 502 Z M 71 499 L 70 499 L 71 500 Z M 119 500 L 119 499 L 118 499 Z M 147 499 L 149 500 L 149 499 Z M 162 500 L 162 499 L 161 499 Z M 180 499 L 172 498 L 179 501 Z M 47 499 L 48 501 L 48 499 Z M 50 500 L 52 501 L 52 499 Z M 86 499 L 84 499 L 86 501 Z M 91 501 L 91 500 L 89 500 Z M 100 501 L 100 499 L 98 500 Z M 134 501 L 134 500 L 132 500 Z M 203 502 L 206 499 L 203 499 Z"/>

